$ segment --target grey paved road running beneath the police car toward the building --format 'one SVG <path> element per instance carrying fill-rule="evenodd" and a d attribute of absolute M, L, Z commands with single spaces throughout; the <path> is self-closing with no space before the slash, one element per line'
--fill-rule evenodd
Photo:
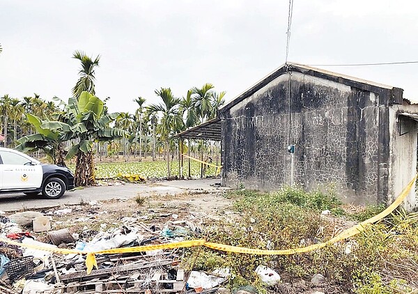
<path fill-rule="evenodd" d="M 202 180 L 171 180 L 149 184 L 125 184 L 114 186 L 86 187 L 66 192 L 61 199 L 42 199 L 42 196 L 29 197 L 24 194 L 0 195 L 0 211 L 28 210 L 33 208 L 47 208 L 63 204 L 73 205 L 91 200 L 127 199 L 137 194 L 178 194 L 188 189 L 219 189 L 213 187 L 220 179 Z M 222 188 L 223 189 L 223 188 Z"/>

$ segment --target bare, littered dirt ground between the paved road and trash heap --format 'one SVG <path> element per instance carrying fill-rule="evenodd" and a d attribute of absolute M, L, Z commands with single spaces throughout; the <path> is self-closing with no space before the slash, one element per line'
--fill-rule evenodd
<path fill-rule="evenodd" d="M 187 229 L 201 231 L 203 222 L 233 215 L 232 201 L 225 193 L 192 189 L 177 194 L 139 194 L 134 199 L 90 201 L 38 211 L 52 217 L 53 230 L 66 228 L 70 233 L 93 236 L 126 226 L 150 238 L 164 228 L 185 226 L 185 222 L 192 226 Z"/>

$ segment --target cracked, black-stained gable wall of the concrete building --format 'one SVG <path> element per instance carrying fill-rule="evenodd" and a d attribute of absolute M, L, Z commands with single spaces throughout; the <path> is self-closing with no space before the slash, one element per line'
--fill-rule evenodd
<path fill-rule="evenodd" d="M 335 184 L 346 201 L 385 201 L 389 114 L 382 100 L 382 93 L 330 79 L 279 75 L 220 112 L 224 183 L 264 190 L 289 184 L 287 147 L 295 144 L 295 183 Z"/>

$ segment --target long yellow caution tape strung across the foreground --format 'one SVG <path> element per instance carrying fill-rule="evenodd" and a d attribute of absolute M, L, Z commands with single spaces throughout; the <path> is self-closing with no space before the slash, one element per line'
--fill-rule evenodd
<path fill-rule="evenodd" d="M 418 175 L 417 175 L 418 176 Z M 417 179 L 415 176 L 408 186 L 403 189 L 403 192 L 398 196 L 398 198 L 388 206 L 385 210 L 380 212 L 378 215 L 371 217 L 370 219 L 366 219 L 364 222 L 361 222 L 350 229 L 346 229 L 342 231 L 334 238 L 319 244 L 309 245 L 307 247 L 300 247 L 300 248 L 293 248 L 293 249 L 279 249 L 279 250 L 263 250 L 263 249 L 251 249 L 245 247 L 237 247 L 231 245 L 224 245 L 214 242 L 206 242 L 206 240 L 189 240 L 183 242 L 174 242 L 168 244 L 159 244 L 159 245 L 146 245 L 146 246 L 137 246 L 137 247 L 125 247 L 125 248 L 116 248 L 116 249 L 107 249 L 98 252 L 82 252 L 80 250 L 75 249 L 60 249 L 60 248 L 48 248 L 48 247 L 40 247 L 37 245 L 31 244 L 22 244 L 20 242 L 16 242 L 13 240 L 3 239 L 0 238 L 1 242 L 5 242 L 11 245 L 17 245 L 24 248 L 29 249 L 38 249 L 46 252 L 52 252 L 57 254 L 87 254 L 86 256 L 86 267 L 87 267 L 87 274 L 91 273 L 93 267 L 98 268 L 98 263 L 95 259 L 95 254 L 118 254 L 118 253 L 132 253 L 132 252 L 146 252 L 151 250 L 158 250 L 158 249 L 174 249 L 174 248 L 184 248 L 184 247 L 197 247 L 197 246 L 204 246 L 210 249 L 215 249 L 223 252 L 234 252 L 234 253 L 242 253 L 242 254 L 259 254 L 259 255 L 290 255 L 290 254 L 299 254 L 304 252 L 311 252 L 316 249 L 323 248 L 327 245 L 331 245 L 335 242 L 339 242 L 341 240 L 353 237 L 353 235 L 357 235 L 361 231 L 366 229 L 366 226 L 373 222 L 378 222 L 383 217 L 386 217 L 390 213 L 392 213 L 401 203 L 402 201 L 408 196 L 410 190 L 414 186 L 415 180 Z"/>

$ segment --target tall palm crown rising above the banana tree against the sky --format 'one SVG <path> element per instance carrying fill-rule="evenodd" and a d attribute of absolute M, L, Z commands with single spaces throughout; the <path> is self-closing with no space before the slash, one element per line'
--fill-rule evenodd
<path fill-rule="evenodd" d="M 72 95 L 74 95 L 77 99 L 79 99 L 83 91 L 87 91 L 88 93 L 91 93 L 91 95 L 95 95 L 94 70 L 96 66 L 99 66 L 100 55 L 98 55 L 93 61 L 91 57 L 87 56 L 84 52 L 77 50 L 74 54 L 72 54 L 72 58 L 79 60 L 82 64 L 82 67 L 79 70 L 80 78 L 74 88 L 72 88 Z"/>

